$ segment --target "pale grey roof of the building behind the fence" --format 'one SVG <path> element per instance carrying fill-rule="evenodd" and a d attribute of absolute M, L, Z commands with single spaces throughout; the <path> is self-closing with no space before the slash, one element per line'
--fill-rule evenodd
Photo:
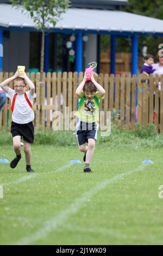
<path fill-rule="evenodd" d="M 84 31 L 85 33 L 140 33 L 163 35 L 163 20 L 117 10 L 70 8 L 54 31 Z M 0 29 L 33 30 L 29 13 L 22 14 L 10 4 L 0 4 Z"/>

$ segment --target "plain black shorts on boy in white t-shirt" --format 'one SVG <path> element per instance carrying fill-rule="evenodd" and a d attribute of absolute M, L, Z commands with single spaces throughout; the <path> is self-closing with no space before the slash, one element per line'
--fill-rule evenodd
<path fill-rule="evenodd" d="M 12 138 L 15 136 L 21 136 L 21 138 L 23 137 L 23 140 L 28 143 L 34 142 L 34 126 L 32 122 L 28 124 L 17 124 L 12 121 L 11 133 Z"/>

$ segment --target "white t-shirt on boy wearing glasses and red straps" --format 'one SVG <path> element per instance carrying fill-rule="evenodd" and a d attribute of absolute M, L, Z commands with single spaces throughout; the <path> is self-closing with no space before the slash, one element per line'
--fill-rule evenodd
<path fill-rule="evenodd" d="M 9 88 L 7 97 L 10 98 L 11 104 L 15 94 L 15 90 Z M 33 99 L 36 97 L 36 94 L 33 96 L 30 95 L 30 92 L 26 92 L 29 101 L 33 104 Z M 34 111 L 29 106 L 24 94 L 17 95 L 15 100 L 14 111 L 12 112 L 12 121 L 17 124 L 28 124 L 34 120 Z"/>

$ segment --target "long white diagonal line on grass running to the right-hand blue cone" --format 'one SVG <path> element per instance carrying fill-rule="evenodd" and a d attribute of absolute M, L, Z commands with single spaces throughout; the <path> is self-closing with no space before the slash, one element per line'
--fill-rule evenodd
<path fill-rule="evenodd" d="M 108 184 L 111 184 L 114 181 L 121 179 L 125 175 L 130 175 L 135 172 L 139 172 L 140 170 L 143 170 L 146 167 L 147 165 L 141 164 L 141 166 L 139 166 L 134 170 L 131 170 L 130 172 L 122 173 L 114 176 L 109 180 L 99 182 L 95 187 L 92 187 L 91 190 L 84 193 L 82 197 L 77 198 L 74 201 L 74 203 L 70 205 L 69 208 L 59 212 L 58 215 L 52 217 L 49 221 L 44 222 L 42 225 L 42 228 L 40 228 L 38 231 L 36 231 L 33 234 L 29 234 L 29 236 L 23 237 L 20 241 L 12 243 L 12 245 L 30 245 L 31 243 L 34 243 L 39 239 L 43 239 L 43 237 L 46 237 L 52 230 L 56 229 L 59 225 L 63 225 L 64 222 L 67 221 L 68 217 L 70 217 L 72 214 L 76 214 L 76 212 L 80 208 L 82 208 L 83 203 L 87 199 L 94 196 L 98 191 L 103 190 Z M 89 175 L 89 174 L 86 174 L 86 175 Z"/>

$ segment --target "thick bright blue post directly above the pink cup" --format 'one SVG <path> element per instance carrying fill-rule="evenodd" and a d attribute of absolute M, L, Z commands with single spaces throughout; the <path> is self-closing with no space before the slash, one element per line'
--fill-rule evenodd
<path fill-rule="evenodd" d="M 76 35 L 76 71 L 83 71 L 83 35 Z"/>

